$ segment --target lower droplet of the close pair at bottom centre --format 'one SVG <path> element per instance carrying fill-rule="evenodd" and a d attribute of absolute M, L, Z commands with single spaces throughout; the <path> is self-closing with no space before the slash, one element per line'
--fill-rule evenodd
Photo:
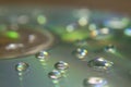
<path fill-rule="evenodd" d="M 49 76 L 49 78 L 52 78 L 52 79 L 59 79 L 59 78 L 62 77 L 61 73 L 57 70 L 53 70 L 52 72 L 49 72 L 48 76 Z"/>

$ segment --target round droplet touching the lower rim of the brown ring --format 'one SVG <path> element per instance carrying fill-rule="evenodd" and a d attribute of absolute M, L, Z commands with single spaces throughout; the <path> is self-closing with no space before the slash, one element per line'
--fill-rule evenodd
<path fill-rule="evenodd" d="M 46 61 L 49 57 L 49 53 L 47 51 L 40 51 L 38 53 L 36 53 L 36 58 L 39 60 L 39 61 Z"/>

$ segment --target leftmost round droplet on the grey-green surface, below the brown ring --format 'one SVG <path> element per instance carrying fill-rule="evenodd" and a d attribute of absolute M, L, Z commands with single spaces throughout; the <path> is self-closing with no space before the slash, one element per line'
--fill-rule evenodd
<path fill-rule="evenodd" d="M 15 70 L 17 72 L 25 72 L 28 67 L 28 64 L 25 63 L 25 62 L 19 62 L 16 65 L 15 65 Z"/>

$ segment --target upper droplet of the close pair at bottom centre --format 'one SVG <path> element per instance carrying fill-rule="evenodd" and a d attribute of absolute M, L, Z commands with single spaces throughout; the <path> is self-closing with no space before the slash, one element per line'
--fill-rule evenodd
<path fill-rule="evenodd" d="M 69 69 L 69 64 L 67 62 L 63 62 L 63 61 L 59 61 L 55 64 L 55 67 L 57 70 L 60 70 L 60 71 L 64 71 L 64 70 L 68 70 Z"/>

